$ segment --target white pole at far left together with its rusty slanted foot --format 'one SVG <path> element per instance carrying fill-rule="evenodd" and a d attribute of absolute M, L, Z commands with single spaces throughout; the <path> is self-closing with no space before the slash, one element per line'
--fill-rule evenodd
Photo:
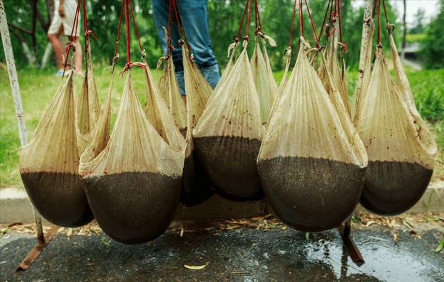
<path fill-rule="evenodd" d="M 17 69 L 15 69 L 14 53 L 12 53 L 12 45 L 9 35 L 8 22 L 6 20 L 5 6 L 3 0 L 0 0 L 0 32 L 1 40 L 3 42 L 3 49 L 5 51 L 6 64 L 8 65 L 9 81 L 11 84 L 12 95 L 14 96 L 15 114 L 17 115 L 17 123 L 19 125 L 20 142 L 22 147 L 28 144 L 28 135 L 26 134 L 26 123 L 24 119 L 22 97 L 20 96 L 19 79 L 17 78 Z M 35 229 L 37 231 L 37 245 L 25 258 L 17 270 L 26 270 L 33 263 L 35 258 L 43 251 L 46 244 L 57 233 L 58 226 L 53 225 L 51 229 L 44 235 L 42 229 L 42 217 L 40 213 L 33 206 L 35 217 Z"/>

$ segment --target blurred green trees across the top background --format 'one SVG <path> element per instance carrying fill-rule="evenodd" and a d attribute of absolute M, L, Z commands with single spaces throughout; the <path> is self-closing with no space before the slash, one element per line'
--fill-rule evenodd
<path fill-rule="evenodd" d="M 54 1 L 59 0 L 4 0 L 6 7 L 6 17 L 10 24 L 12 47 L 15 52 L 15 60 L 19 68 L 40 67 L 42 58 L 48 46 L 46 31 L 52 17 Z M 76 1 L 76 0 L 65 0 Z M 97 41 L 93 40 L 92 53 L 95 64 L 110 65 L 114 56 L 115 42 L 117 38 L 117 30 L 119 26 L 119 15 L 121 12 L 121 0 L 86 0 L 87 2 L 87 21 L 89 29 L 94 31 Z M 441 0 L 444 1 L 444 0 Z M 146 50 L 148 64 L 152 67 L 157 63 L 158 58 L 162 56 L 160 40 L 157 35 L 153 19 L 153 10 L 151 9 L 151 0 L 132 0 L 135 8 L 135 17 L 139 35 L 142 41 L 142 47 Z M 234 33 L 239 28 L 242 13 L 244 11 L 246 0 L 207 0 L 208 18 L 210 21 L 210 37 L 212 46 L 217 60 L 222 68 L 228 62 L 227 50 L 228 45 L 232 43 Z M 271 36 L 278 46 L 275 48 L 268 47 L 268 54 L 271 57 L 273 71 L 279 71 L 284 68 L 284 50 L 288 47 L 291 19 L 293 15 L 293 0 L 258 0 L 259 13 L 261 16 L 262 29 L 266 35 Z M 316 32 L 320 33 L 321 24 L 327 8 L 327 0 L 309 0 L 309 8 L 311 16 L 314 20 Z M 254 5 L 254 3 L 253 3 Z M 438 36 L 443 40 L 443 5 L 441 5 L 441 13 L 434 19 L 434 28 L 429 26 L 417 25 L 418 29 L 425 28 L 430 36 Z M 391 5 L 390 1 L 386 1 L 388 19 L 391 23 L 397 18 L 397 11 Z M 33 13 L 36 10 L 37 13 Z M 252 8 L 254 11 L 254 8 Z M 402 11 L 403 12 L 403 11 Z M 421 11 L 418 11 L 418 20 L 422 23 Z M 33 17 L 33 15 L 35 16 Z M 355 8 L 353 0 L 341 0 L 341 23 L 343 42 L 347 44 L 347 53 L 345 53 L 345 63 L 354 68 L 359 62 L 359 49 L 361 47 L 361 31 L 364 8 Z M 305 39 L 314 46 L 314 36 L 304 5 L 304 26 Z M 441 22 L 440 22 L 441 21 Z M 35 24 L 33 24 L 35 22 Z M 377 22 L 377 19 L 375 19 Z M 254 36 L 254 12 L 251 15 L 250 38 Z M 388 44 L 388 34 L 385 28 L 386 19 L 381 11 L 381 33 L 382 43 L 385 53 L 390 53 Z M 400 25 L 399 25 L 400 26 Z M 295 25 L 293 28 L 293 50 L 298 49 L 299 21 L 296 15 Z M 397 28 L 400 32 L 401 28 Z M 123 27 L 124 31 L 124 27 Z M 241 35 L 245 35 L 246 22 L 241 31 Z M 419 31 L 420 32 L 420 31 Z M 139 51 L 137 38 L 133 27 L 131 28 L 131 53 L 133 60 L 139 59 Z M 395 40 L 398 36 L 395 36 Z M 429 37 L 430 39 L 430 37 Z M 83 38 L 80 38 L 83 40 Z M 119 53 L 126 56 L 126 47 L 124 36 L 121 36 L 119 44 Z M 376 41 L 376 36 L 375 36 Z M 253 41 L 252 41 L 253 42 Z M 1 43 L 0 43 L 1 44 Z M 325 37 L 321 37 L 321 44 L 325 44 Z M 375 45 L 375 42 L 374 42 Z M 432 44 L 433 45 L 433 44 Z M 432 56 L 436 58 L 436 51 L 443 48 L 443 44 L 434 44 L 438 49 L 429 49 L 424 56 Z M 441 48 L 441 49 L 439 49 Z M 28 49 L 29 51 L 26 51 Z M 253 53 L 254 45 L 250 43 L 248 50 Z M 28 53 L 28 56 L 25 55 Z M 53 53 L 53 51 L 52 51 Z M 441 58 L 442 54 L 441 52 Z M 296 60 L 296 56 L 293 56 Z M 427 60 L 427 58 L 426 58 Z M 4 53 L 0 52 L 0 61 L 5 62 Z M 294 62 L 294 61 L 293 61 Z M 46 67 L 53 68 L 56 58 L 52 54 L 51 62 Z M 119 62 L 124 64 L 123 60 Z M 442 59 L 441 59 L 442 64 Z"/>

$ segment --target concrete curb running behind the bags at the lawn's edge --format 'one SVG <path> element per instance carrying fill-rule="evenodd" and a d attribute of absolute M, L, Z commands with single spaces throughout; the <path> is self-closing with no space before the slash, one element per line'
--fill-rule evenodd
<path fill-rule="evenodd" d="M 429 203 L 430 193 L 432 193 L 432 205 L 425 208 Z M 358 205 L 356 212 L 359 213 L 365 209 Z M 444 213 L 444 187 L 439 185 L 429 185 L 422 199 L 413 206 L 407 213 Z M 241 203 L 228 201 L 214 195 L 209 200 L 197 206 L 180 205 L 176 212 L 174 220 L 186 219 L 224 219 L 257 217 L 273 213 L 266 199 L 255 201 L 253 203 Z M 32 224 L 35 222 L 31 201 L 23 188 L 3 188 L 0 190 L 0 224 L 10 224 L 13 222 L 24 222 Z M 46 219 L 43 223 L 49 224 Z"/>

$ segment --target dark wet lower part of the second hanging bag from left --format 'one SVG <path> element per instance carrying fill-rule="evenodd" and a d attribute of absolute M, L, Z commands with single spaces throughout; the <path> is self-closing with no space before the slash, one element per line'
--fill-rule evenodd
<path fill-rule="evenodd" d="M 180 182 L 180 176 L 160 172 L 122 172 L 88 178 L 85 185 L 107 235 L 125 244 L 141 244 L 168 228 L 176 214 Z"/>

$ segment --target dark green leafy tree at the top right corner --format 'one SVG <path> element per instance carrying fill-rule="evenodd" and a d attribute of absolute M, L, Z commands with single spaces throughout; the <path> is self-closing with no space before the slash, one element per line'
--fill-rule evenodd
<path fill-rule="evenodd" d="M 425 29 L 425 38 L 418 53 L 424 59 L 427 69 L 444 67 L 444 0 L 440 0 L 441 8 Z"/>

